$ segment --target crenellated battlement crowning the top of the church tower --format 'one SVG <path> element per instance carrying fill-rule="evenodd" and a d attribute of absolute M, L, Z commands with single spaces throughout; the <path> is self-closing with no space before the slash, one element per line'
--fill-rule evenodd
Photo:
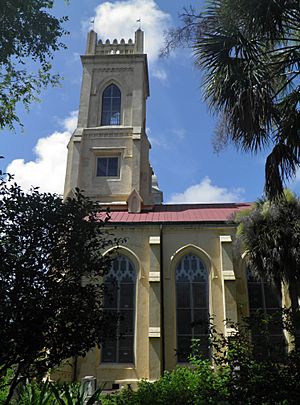
<path fill-rule="evenodd" d="M 144 53 L 144 32 L 138 29 L 135 32 L 135 41 L 129 39 L 125 42 L 121 39 L 118 42 L 114 39 L 112 42 L 107 39 L 103 42 L 101 39 L 98 40 L 97 33 L 95 31 L 90 31 L 88 33 L 86 55 L 132 55 L 132 54 L 143 54 Z"/>

